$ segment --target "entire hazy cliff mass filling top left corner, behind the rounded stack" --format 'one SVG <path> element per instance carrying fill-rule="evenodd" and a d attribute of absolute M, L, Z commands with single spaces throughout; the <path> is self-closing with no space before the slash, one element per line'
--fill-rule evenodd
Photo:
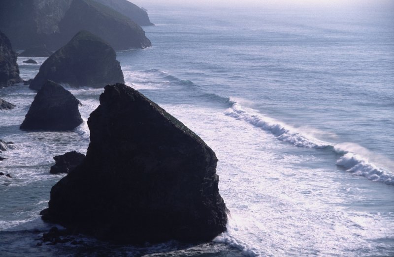
<path fill-rule="evenodd" d="M 112 45 L 117 50 L 121 49 L 118 45 L 122 49 L 150 46 L 139 25 L 110 7 L 98 5 L 92 0 L 2 0 L 0 30 L 9 36 L 15 49 L 43 44 L 58 49 L 82 29 L 110 44 L 117 42 Z"/>

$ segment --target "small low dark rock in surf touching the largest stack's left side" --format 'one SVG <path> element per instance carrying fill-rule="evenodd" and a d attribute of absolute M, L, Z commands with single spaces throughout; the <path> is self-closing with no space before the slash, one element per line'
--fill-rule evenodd
<path fill-rule="evenodd" d="M 67 152 L 53 157 L 55 165 L 49 171 L 51 174 L 68 173 L 80 165 L 85 159 L 85 154 L 76 151 Z"/>

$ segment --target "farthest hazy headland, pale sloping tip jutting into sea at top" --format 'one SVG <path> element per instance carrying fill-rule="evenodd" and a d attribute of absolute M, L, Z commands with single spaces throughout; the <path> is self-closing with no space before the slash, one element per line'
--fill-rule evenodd
<path fill-rule="evenodd" d="M 120 12 L 121 14 L 129 17 L 131 21 L 139 26 L 152 26 L 146 10 L 139 8 L 137 5 L 129 2 L 128 0 L 95 0 L 112 9 Z"/>

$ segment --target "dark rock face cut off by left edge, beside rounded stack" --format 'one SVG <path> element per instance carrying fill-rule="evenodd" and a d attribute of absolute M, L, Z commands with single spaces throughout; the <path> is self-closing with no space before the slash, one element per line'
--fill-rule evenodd
<path fill-rule="evenodd" d="M 23 81 L 19 77 L 19 67 L 16 59 L 17 55 L 12 51 L 11 42 L 0 31 L 0 88 Z"/>

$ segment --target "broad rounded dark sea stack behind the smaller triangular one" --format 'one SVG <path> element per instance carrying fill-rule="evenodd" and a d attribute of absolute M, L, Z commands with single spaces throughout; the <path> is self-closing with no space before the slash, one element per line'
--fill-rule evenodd
<path fill-rule="evenodd" d="M 70 42 L 46 59 L 29 87 L 39 90 L 47 80 L 74 87 L 124 83 L 115 51 L 88 31 L 79 31 Z"/>

